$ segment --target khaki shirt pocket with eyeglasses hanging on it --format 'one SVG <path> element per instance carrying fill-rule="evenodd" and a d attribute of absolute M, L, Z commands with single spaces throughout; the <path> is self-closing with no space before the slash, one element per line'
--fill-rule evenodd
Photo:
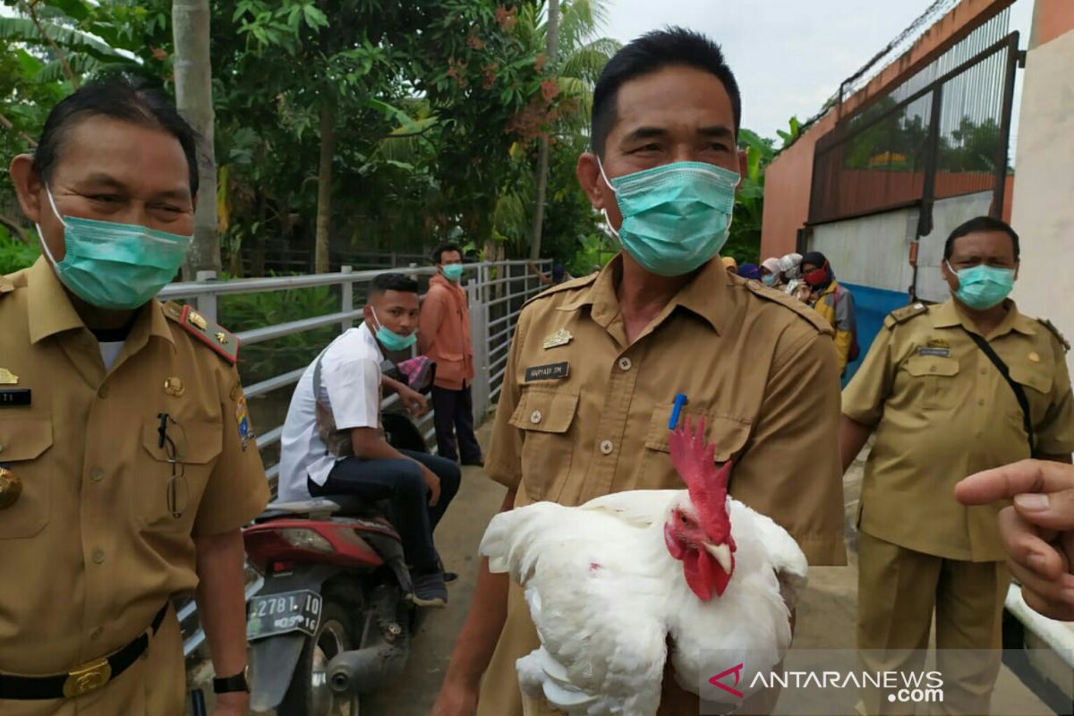
<path fill-rule="evenodd" d="M 176 419 L 168 428 L 175 442 L 175 464 L 169 459 L 170 448 L 160 447 L 160 421 L 147 420 L 142 426 L 142 448 L 149 459 L 146 474 L 135 476 L 133 491 L 137 505 L 135 514 L 142 527 L 154 531 L 190 531 L 205 484 L 223 443 L 223 425 L 218 422 L 195 422 Z M 174 500 L 172 499 L 174 480 Z M 179 516 L 172 513 L 172 506 Z"/>

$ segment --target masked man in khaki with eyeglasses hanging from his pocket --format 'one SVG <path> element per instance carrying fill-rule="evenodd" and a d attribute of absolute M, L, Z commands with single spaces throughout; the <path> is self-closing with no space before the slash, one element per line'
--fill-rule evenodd
<path fill-rule="evenodd" d="M 237 339 L 153 296 L 193 223 L 193 133 L 122 79 L 12 162 L 43 255 L 0 277 L 0 713 L 178 716 L 197 588 L 217 716 L 246 714 L 240 527 L 267 484 Z M 46 258 L 50 257 L 50 258 Z"/>

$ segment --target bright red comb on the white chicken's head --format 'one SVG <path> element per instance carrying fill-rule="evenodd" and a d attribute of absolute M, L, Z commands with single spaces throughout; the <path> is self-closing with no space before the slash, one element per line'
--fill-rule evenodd
<path fill-rule="evenodd" d="M 725 529 L 729 530 L 727 482 L 730 479 L 731 462 L 727 461 L 716 468 L 715 445 L 705 441 L 705 419 L 698 421 L 695 432 L 687 417 L 682 427 L 671 432 L 668 447 L 671 464 L 686 483 L 690 501 L 697 509 L 706 531 L 713 538 L 726 537 L 723 532 Z"/>

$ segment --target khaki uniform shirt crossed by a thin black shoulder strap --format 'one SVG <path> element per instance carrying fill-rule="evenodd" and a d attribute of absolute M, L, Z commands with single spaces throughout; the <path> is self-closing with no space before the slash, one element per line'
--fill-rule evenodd
<path fill-rule="evenodd" d="M 899 309 L 843 391 L 843 413 L 874 427 L 860 528 L 926 554 L 1005 558 L 996 513 L 963 507 L 955 483 L 1030 456 L 1014 391 L 966 334 L 977 328 L 948 299 Z M 1064 346 L 1050 324 L 1010 312 L 988 344 L 1029 399 L 1037 454 L 1074 450 L 1074 403 Z"/>

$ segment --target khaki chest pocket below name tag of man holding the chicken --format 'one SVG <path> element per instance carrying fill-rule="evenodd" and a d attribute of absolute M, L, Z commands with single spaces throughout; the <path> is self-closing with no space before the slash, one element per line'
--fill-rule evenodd
<path fill-rule="evenodd" d="M 578 394 L 526 388 L 510 424 L 522 430 L 522 483 L 533 501 L 554 500 L 570 472 Z"/>

